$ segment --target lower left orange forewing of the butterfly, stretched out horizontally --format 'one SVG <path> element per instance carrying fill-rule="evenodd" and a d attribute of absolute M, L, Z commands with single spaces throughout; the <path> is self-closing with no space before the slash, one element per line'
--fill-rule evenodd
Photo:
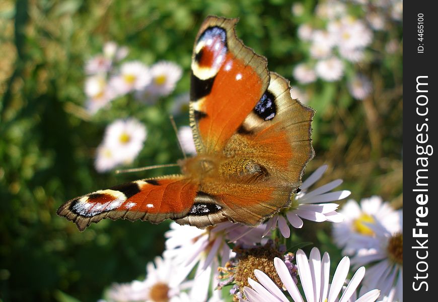
<path fill-rule="evenodd" d="M 160 223 L 186 216 L 197 190 L 198 184 L 182 175 L 137 180 L 71 199 L 59 207 L 58 215 L 74 221 L 81 231 L 103 218 Z"/>

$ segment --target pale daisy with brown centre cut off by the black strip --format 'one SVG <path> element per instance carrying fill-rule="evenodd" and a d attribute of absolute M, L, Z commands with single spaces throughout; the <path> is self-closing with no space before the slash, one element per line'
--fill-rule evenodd
<path fill-rule="evenodd" d="M 388 300 L 403 302 L 403 211 L 398 223 L 388 230 L 380 221 L 369 223 L 375 236 L 355 236 L 349 244 L 357 253 L 351 258 L 356 267 L 372 264 L 363 279 L 365 289 L 378 286 Z M 371 248 L 370 248 L 371 247 Z"/>

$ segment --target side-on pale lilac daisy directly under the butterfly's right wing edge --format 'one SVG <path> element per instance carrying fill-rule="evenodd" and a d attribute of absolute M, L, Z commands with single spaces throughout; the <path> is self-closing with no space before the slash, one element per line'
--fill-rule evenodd
<path fill-rule="evenodd" d="M 330 192 L 342 183 L 341 179 L 334 180 L 313 191 L 308 191 L 308 188 L 319 180 L 326 170 L 327 165 L 319 167 L 303 182 L 300 187 L 301 191 L 295 195 L 295 200 L 291 206 L 279 214 L 275 214 L 262 224 L 265 225 L 264 236 L 270 230 L 275 230 L 277 223 L 281 235 L 289 238 L 290 228 L 288 223 L 294 228 L 300 229 L 304 224 L 302 218 L 316 222 L 341 222 L 343 220 L 343 216 L 336 212 L 339 205 L 337 203 L 328 203 L 344 199 L 350 195 L 350 191 L 347 190 Z"/>

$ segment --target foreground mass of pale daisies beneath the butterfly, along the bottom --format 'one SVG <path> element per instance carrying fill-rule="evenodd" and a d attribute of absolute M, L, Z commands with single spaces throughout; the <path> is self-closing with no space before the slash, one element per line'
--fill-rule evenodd
<path fill-rule="evenodd" d="M 147 265 L 145 277 L 113 284 L 102 302 L 401 302 L 400 211 L 377 196 L 360 205 L 348 200 L 339 210 L 350 195 L 335 190 L 341 180 L 314 188 L 326 170 L 308 176 L 289 208 L 255 228 L 225 221 L 201 230 L 172 222 L 166 249 Z M 304 220 L 333 223 L 334 240 L 346 254 L 334 271 L 330 255 L 316 247 L 309 256 L 287 251 L 286 239 L 305 228 Z"/>

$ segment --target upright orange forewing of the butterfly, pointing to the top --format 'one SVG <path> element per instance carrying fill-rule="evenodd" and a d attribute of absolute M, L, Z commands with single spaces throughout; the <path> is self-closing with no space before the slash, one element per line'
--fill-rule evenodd
<path fill-rule="evenodd" d="M 195 40 L 190 123 L 198 153 L 220 152 L 269 83 L 266 58 L 237 38 L 236 23 L 207 17 Z"/>

